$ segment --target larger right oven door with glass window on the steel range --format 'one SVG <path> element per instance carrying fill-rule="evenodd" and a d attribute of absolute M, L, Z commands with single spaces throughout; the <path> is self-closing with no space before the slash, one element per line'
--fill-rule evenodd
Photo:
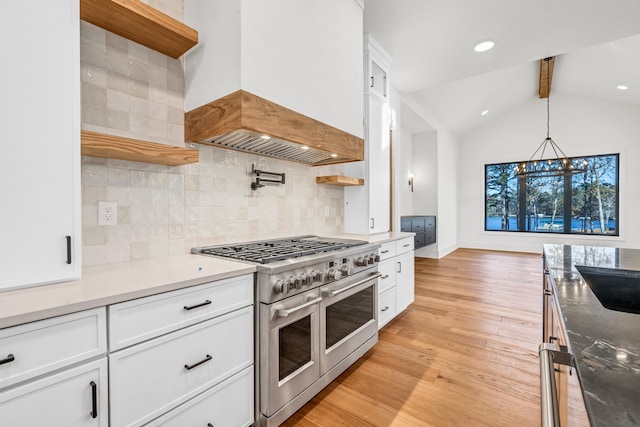
<path fill-rule="evenodd" d="M 377 272 L 324 286 L 320 306 L 320 375 L 378 335 Z"/>

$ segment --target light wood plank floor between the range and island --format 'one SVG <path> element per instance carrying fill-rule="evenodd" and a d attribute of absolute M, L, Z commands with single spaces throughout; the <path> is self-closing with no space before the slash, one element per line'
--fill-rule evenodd
<path fill-rule="evenodd" d="M 540 255 L 416 258 L 416 298 L 284 426 L 539 426 Z"/>

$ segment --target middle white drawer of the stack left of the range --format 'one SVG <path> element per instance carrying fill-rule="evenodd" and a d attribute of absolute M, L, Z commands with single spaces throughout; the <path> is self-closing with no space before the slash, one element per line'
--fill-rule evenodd
<path fill-rule="evenodd" d="M 143 424 L 252 364 L 253 307 L 112 353 L 110 423 Z"/>

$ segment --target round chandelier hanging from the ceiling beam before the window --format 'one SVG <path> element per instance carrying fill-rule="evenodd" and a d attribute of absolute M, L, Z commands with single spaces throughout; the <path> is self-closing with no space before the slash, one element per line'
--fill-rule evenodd
<path fill-rule="evenodd" d="M 549 90 L 551 88 L 551 61 L 552 58 L 545 58 L 547 63 L 547 84 Z M 564 154 L 564 151 L 555 143 L 551 136 L 549 136 L 549 98 L 550 94 L 547 94 L 547 137 L 538 146 L 538 149 L 534 151 L 533 155 L 528 161 L 522 162 L 515 167 L 516 176 L 520 178 L 547 178 L 564 175 L 573 175 L 586 172 L 587 160 L 579 161 L 578 159 L 570 159 Z M 551 155 L 553 152 L 554 157 L 545 158 L 545 152 Z M 539 154 L 539 156 L 538 156 Z"/>

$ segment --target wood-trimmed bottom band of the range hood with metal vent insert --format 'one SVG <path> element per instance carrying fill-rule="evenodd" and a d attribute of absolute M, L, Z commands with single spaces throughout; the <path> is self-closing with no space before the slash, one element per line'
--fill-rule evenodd
<path fill-rule="evenodd" d="M 238 90 L 185 114 L 185 141 L 313 166 L 364 160 L 364 140 Z"/>

